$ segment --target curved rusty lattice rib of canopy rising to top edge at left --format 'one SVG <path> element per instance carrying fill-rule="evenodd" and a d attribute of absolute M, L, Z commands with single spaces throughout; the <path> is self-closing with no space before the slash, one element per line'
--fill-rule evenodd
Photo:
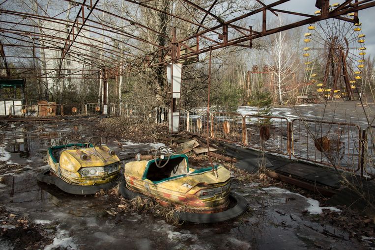
<path fill-rule="evenodd" d="M 98 1 L 99 0 L 95 1 L 94 5 L 90 8 L 90 11 L 88 12 L 86 17 L 85 17 L 84 5 L 82 5 L 82 8 L 80 8 L 80 10 L 78 11 L 76 18 L 74 19 L 74 23 L 77 24 L 77 29 L 78 29 L 77 34 L 75 34 L 75 32 L 74 32 L 74 24 L 73 24 L 73 27 L 69 30 L 69 34 L 65 39 L 65 44 L 64 44 L 64 47 L 61 51 L 60 64 L 58 66 L 58 74 L 59 75 L 60 75 L 60 69 L 61 69 L 61 66 L 62 66 L 62 61 L 64 60 L 65 55 L 69 52 L 70 47 L 76 41 L 77 37 L 79 36 L 79 34 L 81 32 L 81 29 L 85 26 L 87 18 L 91 15 L 92 11 L 95 9 L 95 6 L 98 3 Z M 86 2 L 86 0 L 83 1 L 83 4 L 85 4 L 85 2 Z M 78 27 L 78 25 L 79 25 L 78 20 L 81 16 L 81 12 L 82 12 L 82 25 L 80 27 Z M 73 36 L 72 40 L 71 40 L 71 35 Z"/>

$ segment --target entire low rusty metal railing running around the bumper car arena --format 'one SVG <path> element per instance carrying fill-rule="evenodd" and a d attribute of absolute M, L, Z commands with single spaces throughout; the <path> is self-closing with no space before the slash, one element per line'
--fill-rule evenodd
<path fill-rule="evenodd" d="M 169 109 L 119 103 L 110 114 L 129 121 L 168 124 Z M 98 103 L 11 105 L 9 117 L 51 117 L 102 113 Z M 208 121 L 208 130 L 207 130 Z M 180 130 L 302 159 L 326 166 L 361 171 L 375 177 L 375 126 L 361 131 L 355 124 L 202 110 L 180 111 Z"/>

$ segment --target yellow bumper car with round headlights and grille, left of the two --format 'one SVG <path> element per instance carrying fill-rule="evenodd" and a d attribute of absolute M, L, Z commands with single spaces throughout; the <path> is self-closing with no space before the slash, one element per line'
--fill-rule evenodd
<path fill-rule="evenodd" d="M 37 179 L 69 194 L 95 194 L 113 188 L 120 177 L 120 161 L 108 146 L 90 143 L 93 138 L 87 143 L 72 143 L 77 141 L 73 139 L 48 148 L 50 169 L 39 173 Z"/>

